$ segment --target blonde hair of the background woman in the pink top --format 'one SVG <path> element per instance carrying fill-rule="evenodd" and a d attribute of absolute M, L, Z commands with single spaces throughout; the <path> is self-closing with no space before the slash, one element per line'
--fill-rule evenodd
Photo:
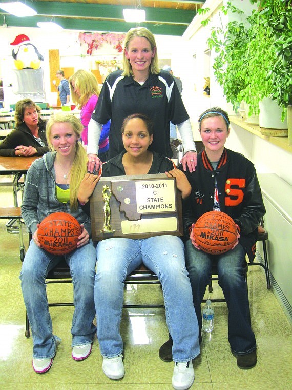
<path fill-rule="evenodd" d="M 76 92 L 74 92 L 72 81 L 74 82 L 75 87 L 79 89 L 80 96 Z M 96 77 L 92 72 L 89 72 L 87 70 L 77 70 L 77 72 L 75 72 L 70 77 L 69 84 L 72 101 L 77 105 L 77 108 L 79 110 L 86 105 L 90 96 L 99 95 L 99 87 Z"/>

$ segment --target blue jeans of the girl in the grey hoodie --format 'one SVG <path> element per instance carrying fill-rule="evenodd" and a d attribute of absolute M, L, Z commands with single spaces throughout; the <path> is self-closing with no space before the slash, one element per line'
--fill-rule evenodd
<path fill-rule="evenodd" d="M 95 317 L 93 299 L 95 255 L 92 242 L 65 255 L 74 290 L 72 346 L 92 342 L 96 332 L 96 327 L 92 323 Z M 33 357 L 38 359 L 53 358 L 56 353 L 45 279 L 60 260 L 60 256 L 40 249 L 32 240 L 19 276 L 32 330 Z"/>

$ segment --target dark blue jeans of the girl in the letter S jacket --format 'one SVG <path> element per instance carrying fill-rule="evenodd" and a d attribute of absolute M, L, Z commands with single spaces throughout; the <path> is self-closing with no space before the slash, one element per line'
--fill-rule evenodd
<path fill-rule="evenodd" d="M 201 334 L 201 302 L 214 261 L 217 262 L 218 283 L 228 307 L 228 341 L 231 350 L 237 355 L 248 354 L 256 349 L 256 339 L 251 327 L 248 292 L 243 278 L 245 253 L 240 244 L 222 255 L 210 255 L 198 250 L 191 240 L 185 244 L 185 264 L 191 280 L 199 332 Z"/>

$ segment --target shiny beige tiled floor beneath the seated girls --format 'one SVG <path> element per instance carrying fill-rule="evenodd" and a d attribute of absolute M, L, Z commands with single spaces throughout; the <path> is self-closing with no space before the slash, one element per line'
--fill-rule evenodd
<path fill-rule="evenodd" d="M 0 187 L 0 202 L 13 205 L 11 188 Z M 73 308 L 50 308 L 54 333 L 61 337 L 50 371 L 43 375 L 31 366 L 32 338 L 25 338 L 25 307 L 18 279 L 22 263 L 19 240 L 5 229 L 0 220 L 0 387 L 3 389 L 171 389 L 173 363 L 158 357 L 160 345 L 166 341 L 168 330 L 163 309 L 124 309 L 121 334 L 124 341 L 123 379 L 112 381 L 101 369 L 98 341 L 93 352 L 82 362 L 71 358 L 70 327 Z M 27 235 L 25 235 L 27 244 Z M 240 370 L 227 341 L 227 308 L 215 306 L 215 327 L 203 335 L 201 354 L 194 360 L 195 383 L 198 390 L 292 389 L 291 326 L 272 291 L 266 289 L 259 267 L 248 271 L 248 289 L 252 325 L 258 344 L 258 364 L 247 371 Z M 221 295 L 219 287 L 213 296 Z M 48 286 L 50 301 L 72 300 L 71 285 Z M 206 295 L 207 297 L 207 295 Z M 212 298 L 212 297 L 211 297 Z M 163 302 L 159 286 L 131 286 L 125 291 L 127 302 Z"/>

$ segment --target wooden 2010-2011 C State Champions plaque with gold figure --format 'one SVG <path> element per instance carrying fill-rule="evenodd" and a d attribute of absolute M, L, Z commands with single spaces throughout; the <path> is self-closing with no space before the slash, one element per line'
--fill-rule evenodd
<path fill-rule="evenodd" d="M 183 235 L 181 193 L 165 174 L 100 178 L 90 214 L 94 241 Z"/>

